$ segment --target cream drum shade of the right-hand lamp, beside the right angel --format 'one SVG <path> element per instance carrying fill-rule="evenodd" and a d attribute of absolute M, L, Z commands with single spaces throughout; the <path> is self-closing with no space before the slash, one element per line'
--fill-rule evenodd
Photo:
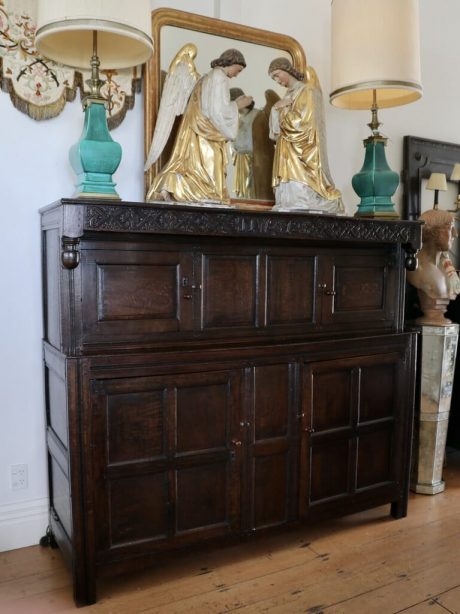
<path fill-rule="evenodd" d="M 331 94 L 334 106 L 370 109 L 420 98 L 417 0 L 332 0 Z"/>

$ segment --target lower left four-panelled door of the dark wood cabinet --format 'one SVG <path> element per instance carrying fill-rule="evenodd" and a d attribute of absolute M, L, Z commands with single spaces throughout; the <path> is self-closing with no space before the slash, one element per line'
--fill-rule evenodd
<path fill-rule="evenodd" d="M 93 381 L 101 557 L 238 528 L 239 386 L 232 371 Z"/>

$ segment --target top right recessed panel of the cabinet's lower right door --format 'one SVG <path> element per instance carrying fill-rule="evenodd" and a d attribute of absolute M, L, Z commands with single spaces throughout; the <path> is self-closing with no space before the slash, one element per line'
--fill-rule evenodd
<path fill-rule="evenodd" d="M 361 369 L 359 421 L 393 416 L 396 410 L 396 366 L 394 363 Z"/>

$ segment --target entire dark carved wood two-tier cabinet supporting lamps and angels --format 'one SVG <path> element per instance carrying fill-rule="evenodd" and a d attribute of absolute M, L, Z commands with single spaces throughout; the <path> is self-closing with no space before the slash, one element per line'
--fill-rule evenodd
<path fill-rule="evenodd" d="M 416 222 L 42 210 L 50 527 L 77 604 L 161 552 L 406 514 Z"/>

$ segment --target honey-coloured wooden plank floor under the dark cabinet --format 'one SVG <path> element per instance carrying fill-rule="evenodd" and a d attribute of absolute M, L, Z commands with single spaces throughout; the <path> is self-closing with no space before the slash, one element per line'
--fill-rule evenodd
<path fill-rule="evenodd" d="M 448 454 L 447 489 L 255 543 L 182 554 L 99 583 L 86 613 L 445 614 L 460 612 L 460 452 Z M 75 612 L 58 550 L 0 553 L 1 614 Z"/>

